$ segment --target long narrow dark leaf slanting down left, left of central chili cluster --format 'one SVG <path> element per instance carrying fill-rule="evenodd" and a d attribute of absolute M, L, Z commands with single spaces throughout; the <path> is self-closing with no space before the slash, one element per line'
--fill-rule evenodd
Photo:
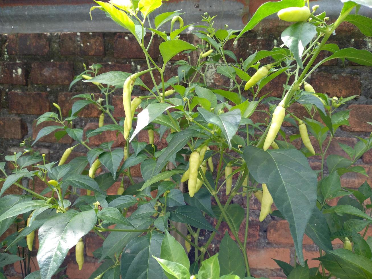
<path fill-rule="evenodd" d="M 196 130 L 186 129 L 174 135 L 174 137 L 170 140 L 168 146 L 159 156 L 156 162 L 156 167 L 154 168 L 151 177 L 154 177 L 156 174 L 158 174 L 160 170 L 163 169 L 163 167 L 166 165 L 166 163 L 168 163 L 169 158 L 177 153 L 179 150 L 181 150 L 181 148 L 186 145 L 190 138 L 197 137 L 199 134 L 200 132 Z"/>

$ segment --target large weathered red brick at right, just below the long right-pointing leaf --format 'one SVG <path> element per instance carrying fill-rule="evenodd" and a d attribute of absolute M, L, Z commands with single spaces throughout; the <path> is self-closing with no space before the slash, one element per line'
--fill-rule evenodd
<path fill-rule="evenodd" d="M 313 73 L 311 86 L 314 87 L 315 92 L 324 93 L 330 97 L 360 95 L 360 78 L 357 75 Z"/>

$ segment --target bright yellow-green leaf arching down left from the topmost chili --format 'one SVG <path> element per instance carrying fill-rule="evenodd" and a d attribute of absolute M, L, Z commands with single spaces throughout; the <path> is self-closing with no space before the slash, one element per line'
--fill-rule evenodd
<path fill-rule="evenodd" d="M 304 2 L 302 0 L 282 0 L 278 2 L 266 2 L 262 4 L 251 17 L 247 25 L 244 26 L 243 30 L 236 37 L 235 41 L 239 39 L 245 32 L 253 29 L 253 27 L 256 26 L 265 17 L 272 15 L 273 13 L 277 13 L 281 9 L 302 6 L 304 6 Z"/>

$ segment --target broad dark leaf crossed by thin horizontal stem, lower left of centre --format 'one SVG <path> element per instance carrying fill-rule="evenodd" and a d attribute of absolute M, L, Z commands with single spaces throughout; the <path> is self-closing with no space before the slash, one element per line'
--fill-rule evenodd
<path fill-rule="evenodd" d="M 67 211 L 68 212 L 68 211 Z M 151 218 L 133 218 L 128 220 L 137 230 L 145 230 L 152 223 L 153 219 Z M 132 226 L 126 225 L 116 225 L 116 229 L 122 230 L 133 230 Z M 103 251 L 100 260 L 105 259 L 107 256 L 113 256 L 115 253 L 120 253 L 122 249 L 129 243 L 133 238 L 141 235 L 142 232 L 122 232 L 122 231 L 113 231 L 105 241 L 103 241 Z"/>

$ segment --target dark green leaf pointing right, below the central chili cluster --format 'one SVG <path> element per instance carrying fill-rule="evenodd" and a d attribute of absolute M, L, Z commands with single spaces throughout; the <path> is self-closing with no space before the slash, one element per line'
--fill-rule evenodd
<path fill-rule="evenodd" d="M 206 221 L 200 210 L 190 205 L 179 206 L 174 212 L 171 212 L 169 219 L 174 222 L 189 224 L 203 230 L 217 232 L 216 229 Z"/>

